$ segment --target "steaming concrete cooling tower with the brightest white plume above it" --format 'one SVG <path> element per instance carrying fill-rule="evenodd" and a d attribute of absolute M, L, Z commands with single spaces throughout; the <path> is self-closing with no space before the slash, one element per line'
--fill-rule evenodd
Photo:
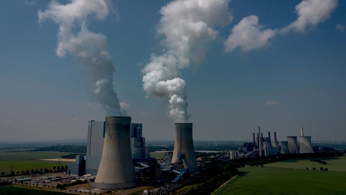
<path fill-rule="evenodd" d="M 199 171 L 192 141 L 192 123 L 175 123 L 175 141 L 172 163 L 175 163 L 179 153 L 184 153 L 182 158 L 184 168 L 190 172 Z"/>

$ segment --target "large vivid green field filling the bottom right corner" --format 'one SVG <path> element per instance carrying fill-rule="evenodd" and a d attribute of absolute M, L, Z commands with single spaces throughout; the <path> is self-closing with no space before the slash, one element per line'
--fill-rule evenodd
<path fill-rule="evenodd" d="M 344 172 L 244 167 L 214 195 L 346 194 Z"/>

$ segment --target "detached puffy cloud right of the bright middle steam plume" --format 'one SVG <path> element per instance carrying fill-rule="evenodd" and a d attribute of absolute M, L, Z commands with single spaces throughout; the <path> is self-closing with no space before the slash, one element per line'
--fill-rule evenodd
<path fill-rule="evenodd" d="M 264 26 L 258 24 L 258 17 L 255 15 L 244 17 L 236 24 L 224 41 L 225 51 L 232 52 L 238 46 L 243 51 L 262 48 L 268 44 L 268 40 L 275 36 L 276 29 L 263 29 Z"/>

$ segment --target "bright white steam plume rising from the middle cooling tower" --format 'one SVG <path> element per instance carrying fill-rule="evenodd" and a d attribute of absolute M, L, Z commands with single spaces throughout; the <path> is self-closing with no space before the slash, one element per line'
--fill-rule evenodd
<path fill-rule="evenodd" d="M 229 24 L 230 0 L 175 0 L 162 7 L 157 34 L 165 38 L 165 53 L 152 54 L 142 69 L 147 97 L 167 97 L 168 115 L 175 122 L 188 121 L 186 83 L 180 69 L 198 66 L 205 59 L 207 44 L 218 36 L 216 26 Z"/>

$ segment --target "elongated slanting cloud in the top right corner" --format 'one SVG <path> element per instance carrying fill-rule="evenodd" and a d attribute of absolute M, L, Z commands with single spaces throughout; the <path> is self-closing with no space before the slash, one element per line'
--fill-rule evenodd
<path fill-rule="evenodd" d="M 287 33 L 291 30 L 304 32 L 308 27 L 316 26 L 330 18 L 338 6 L 338 0 L 304 0 L 295 6 L 298 18 L 280 30 L 281 33 Z"/>

